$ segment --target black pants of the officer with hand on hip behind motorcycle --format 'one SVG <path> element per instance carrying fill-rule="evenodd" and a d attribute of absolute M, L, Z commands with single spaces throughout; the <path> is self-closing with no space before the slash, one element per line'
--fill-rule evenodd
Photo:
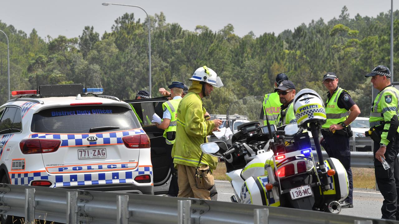
<path fill-rule="evenodd" d="M 348 173 L 349 181 L 349 194 L 344 201 L 353 204 L 353 177 L 352 169 L 350 169 L 350 149 L 349 149 L 349 138 L 340 134 L 323 134 L 324 141 L 326 144 L 324 150 L 326 150 L 328 157 L 338 159 L 346 169 Z"/>

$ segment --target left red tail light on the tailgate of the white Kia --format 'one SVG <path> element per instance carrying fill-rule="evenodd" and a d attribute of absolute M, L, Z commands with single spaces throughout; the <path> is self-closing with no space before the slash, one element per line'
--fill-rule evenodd
<path fill-rule="evenodd" d="M 24 154 L 49 153 L 58 150 L 60 140 L 26 139 L 20 142 L 20 149 Z"/>

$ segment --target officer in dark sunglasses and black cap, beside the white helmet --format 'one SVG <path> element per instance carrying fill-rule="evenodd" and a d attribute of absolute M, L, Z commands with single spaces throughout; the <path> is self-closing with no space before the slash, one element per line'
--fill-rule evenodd
<path fill-rule="evenodd" d="M 277 127 L 291 124 L 296 122 L 294 114 L 294 98 L 295 98 L 295 85 L 291 81 L 282 81 L 275 92 L 279 96 L 280 103 L 280 113 L 277 116 Z"/>

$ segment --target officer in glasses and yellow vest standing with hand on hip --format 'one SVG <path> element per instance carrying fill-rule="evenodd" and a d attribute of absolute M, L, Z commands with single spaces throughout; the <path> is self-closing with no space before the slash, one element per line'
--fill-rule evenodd
<path fill-rule="evenodd" d="M 349 124 L 360 114 L 360 110 L 349 93 L 338 86 L 338 77 L 335 73 L 329 72 L 325 74 L 323 83 L 328 92 L 326 101 L 327 121 L 322 125 L 323 138 L 321 144 L 328 157 L 338 159 L 345 167 L 346 173 L 348 173 L 349 194 L 341 202 L 341 207 L 353 208 L 353 178 L 350 168 L 349 149 L 349 138 L 353 134 L 350 131 Z"/>

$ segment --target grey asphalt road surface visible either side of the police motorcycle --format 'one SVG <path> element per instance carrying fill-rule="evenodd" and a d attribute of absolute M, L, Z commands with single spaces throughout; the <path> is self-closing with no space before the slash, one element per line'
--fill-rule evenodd
<path fill-rule="evenodd" d="M 218 201 L 230 201 L 233 194 L 233 188 L 229 181 L 215 181 L 217 188 Z M 379 191 L 368 191 L 363 189 L 354 189 L 353 208 L 343 208 L 340 214 L 349 216 L 359 216 L 363 218 L 381 218 L 381 206 L 384 200 Z"/>

